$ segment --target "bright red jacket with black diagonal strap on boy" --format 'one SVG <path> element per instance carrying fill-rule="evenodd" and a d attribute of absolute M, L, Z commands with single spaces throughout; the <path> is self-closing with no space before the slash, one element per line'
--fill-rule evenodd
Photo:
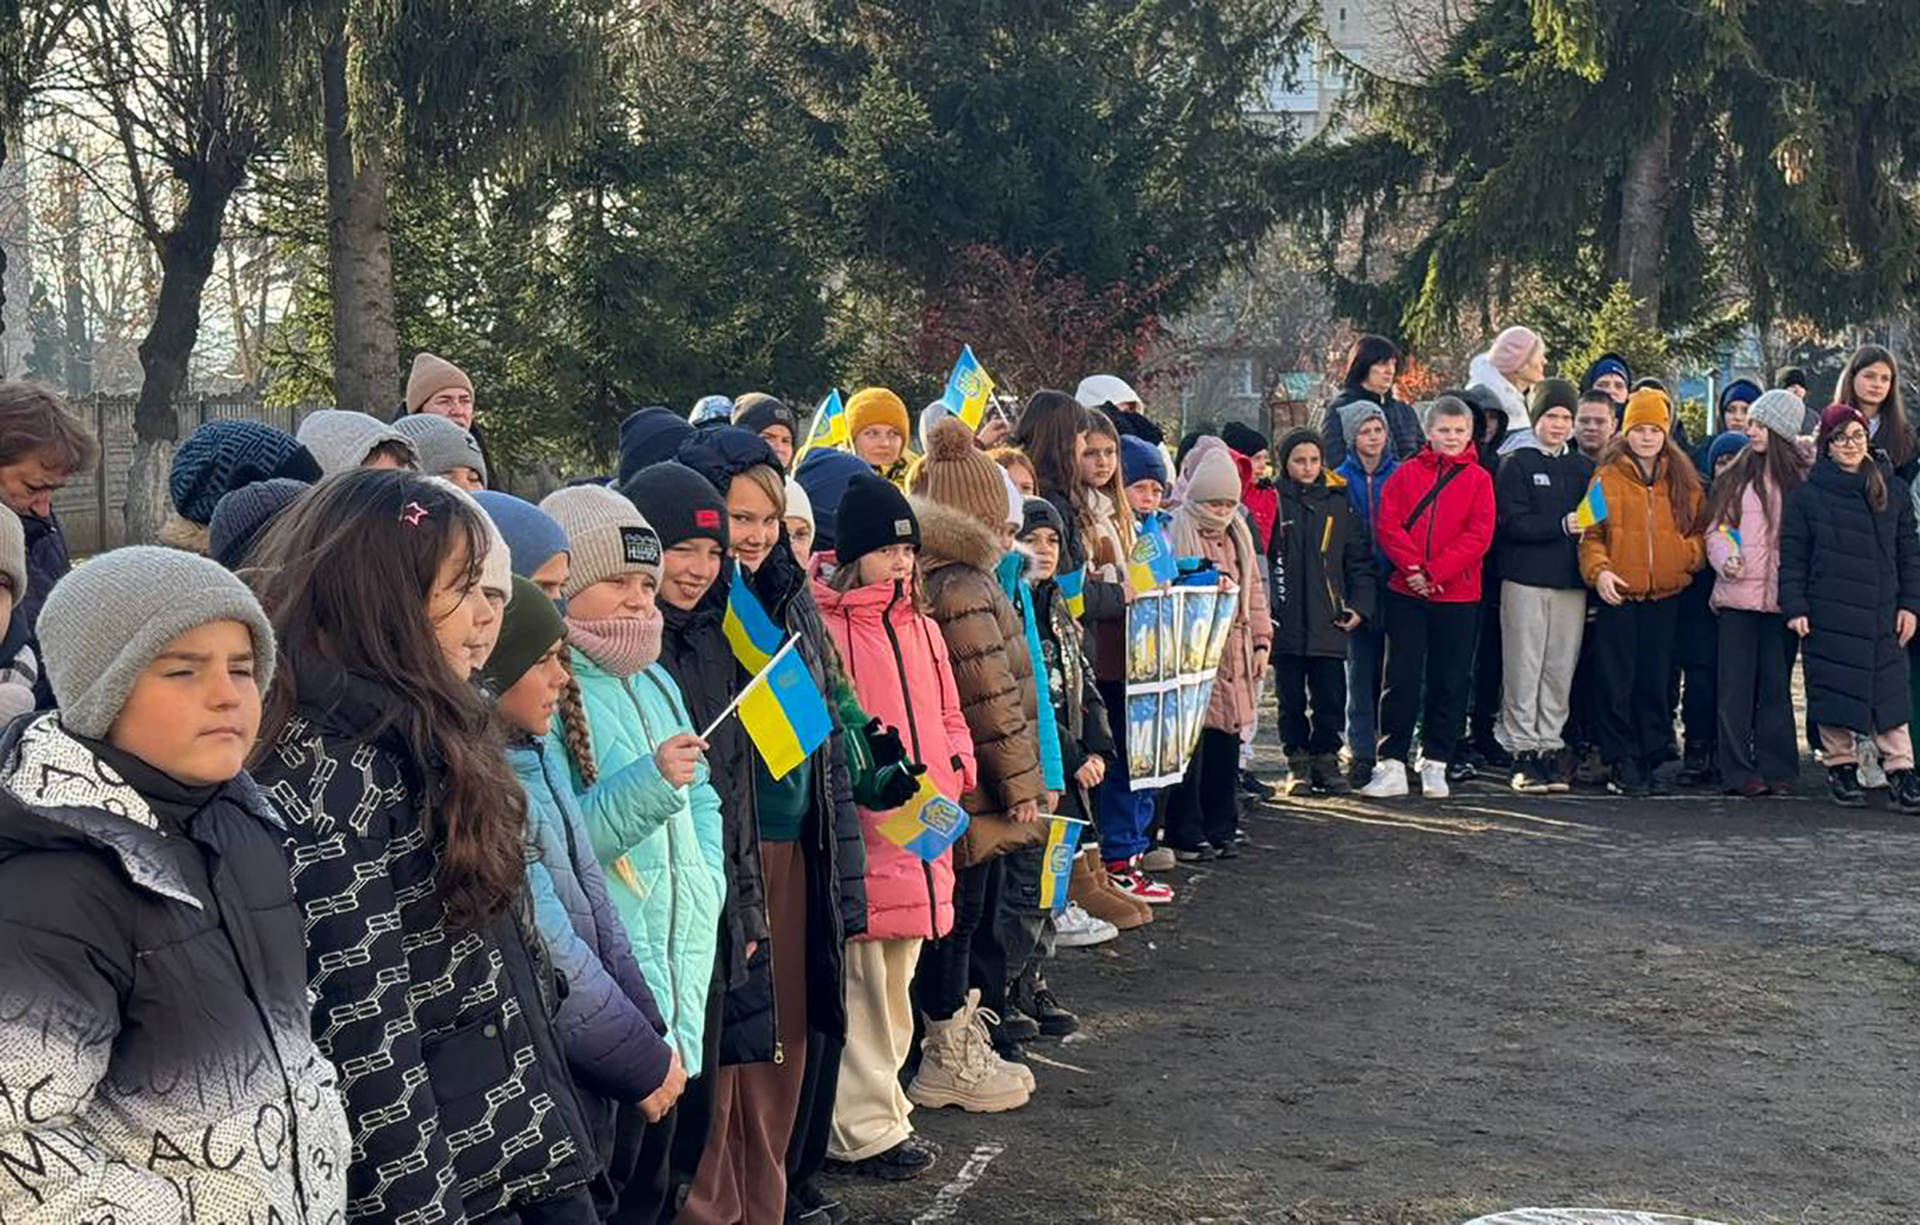
<path fill-rule="evenodd" d="M 1434 488 L 1446 468 L 1459 468 L 1440 495 L 1421 509 L 1413 526 L 1407 518 L 1421 497 Z M 1480 563 L 1494 543 L 1494 478 L 1475 459 L 1473 447 L 1446 457 L 1423 447 L 1404 461 L 1380 488 L 1380 511 L 1373 516 L 1373 534 L 1394 564 L 1386 584 L 1402 595 L 1413 595 L 1409 570 L 1427 574 L 1427 599 L 1465 605 L 1480 599 Z"/>

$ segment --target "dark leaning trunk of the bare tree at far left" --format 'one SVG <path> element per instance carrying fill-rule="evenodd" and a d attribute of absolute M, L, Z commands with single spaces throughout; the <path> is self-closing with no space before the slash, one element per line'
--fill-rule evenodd
<path fill-rule="evenodd" d="M 132 468 L 127 472 L 127 543 L 159 540 L 167 518 L 167 472 L 180 438 L 175 401 L 186 386 L 188 361 L 200 340 L 200 300 L 213 275 L 227 202 L 246 173 L 219 154 L 211 165 L 194 167 L 182 180 L 186 207 L 159 236 L 159 300 L 154 324 L 140 342 L 140 399 L 132 409 Z"/>

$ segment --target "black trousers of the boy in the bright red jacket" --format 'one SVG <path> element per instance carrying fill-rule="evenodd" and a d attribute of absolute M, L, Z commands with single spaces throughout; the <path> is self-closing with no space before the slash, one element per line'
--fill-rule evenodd
<path fill-rule="evenodd" d="M 1452 762 L 1467 718 L 1480 605 L 1386 593 L 1386 689 L 1380 693 L 1380 760 L 1405 762 L 1413 724 L 1430 762 Z"/>

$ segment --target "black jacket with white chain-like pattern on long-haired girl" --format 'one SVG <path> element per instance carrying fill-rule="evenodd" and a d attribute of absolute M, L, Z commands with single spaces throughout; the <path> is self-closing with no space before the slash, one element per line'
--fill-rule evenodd
<path fill-rule="evenodd" d="M 593 1141 L 532 914 L 447 924 L 440 766 L 399 730 L 367 737 L 399 697 L 323 659 L 292 666 L 296 716 L 253 778 L 309 916 L 313 1027 L 353 1125 L 349 1215 L 478 1219 L 586 1185 Z"/>

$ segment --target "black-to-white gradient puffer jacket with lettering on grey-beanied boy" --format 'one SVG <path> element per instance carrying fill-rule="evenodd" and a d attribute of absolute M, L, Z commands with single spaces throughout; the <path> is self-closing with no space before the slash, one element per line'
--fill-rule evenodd
<path fill-rule="evenodd" d="M 0 741 L 0 1219 L 344 1221 L 278 818 L 100 753 Z"/>

